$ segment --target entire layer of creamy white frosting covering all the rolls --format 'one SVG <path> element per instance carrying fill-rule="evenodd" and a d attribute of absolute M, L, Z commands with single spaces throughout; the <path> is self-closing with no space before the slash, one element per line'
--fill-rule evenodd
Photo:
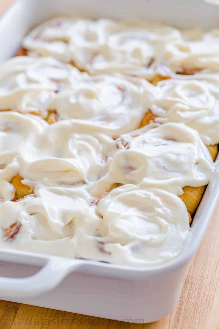
<path fill-rule="evenodd" d="M 178 195 L 215 169 L 217 38 L 74 17 L 33 29 L 29 56 L 0 67 L 0 248 L 145 267 L 178 257 L 192 238 Z M 157 74 L 171 79 L 142 79 Z M 16 198 L 16 175 L 32 194 Z"/>

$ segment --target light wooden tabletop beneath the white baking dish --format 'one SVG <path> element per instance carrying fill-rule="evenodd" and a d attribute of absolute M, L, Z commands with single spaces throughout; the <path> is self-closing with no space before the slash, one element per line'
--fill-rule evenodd
<path fill-rule="evenodd" d="M 0 0 L 0 14 L 12 2 Z M 21 316 L 23 320 L 20 322 Z M 0 328 L 219 329 L 219 205 L 191 265 L 179 304 L 162 320 L 149 324 L 129 324 L 2 300 Z"/>

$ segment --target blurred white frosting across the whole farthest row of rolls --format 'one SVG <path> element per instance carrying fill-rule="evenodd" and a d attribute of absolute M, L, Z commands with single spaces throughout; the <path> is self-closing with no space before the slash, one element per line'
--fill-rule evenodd
<path fill-rule="evenodd" d="M 177 30 L 167 25 L 59 17 L 23 40 L 31 56 L 53 56 L 90 74 L 120 72 L 150 80 L 183 68 L 219 69 L 219 30 Z M 166 64 L 169 71 L 161 70 Z M 162 72 L 163 71 L 163 72 Z"/>

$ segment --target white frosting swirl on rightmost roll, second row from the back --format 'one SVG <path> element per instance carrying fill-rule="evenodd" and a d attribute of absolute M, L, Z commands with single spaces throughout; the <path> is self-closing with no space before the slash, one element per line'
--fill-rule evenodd
<path fill-rule="evenodd" d="M 219 143 L 219 76 L 195 74 L 165 80 L 156 86 L 151 102 L 156 122 L 183 122 L 197 130 L 207 145 Z"/>

